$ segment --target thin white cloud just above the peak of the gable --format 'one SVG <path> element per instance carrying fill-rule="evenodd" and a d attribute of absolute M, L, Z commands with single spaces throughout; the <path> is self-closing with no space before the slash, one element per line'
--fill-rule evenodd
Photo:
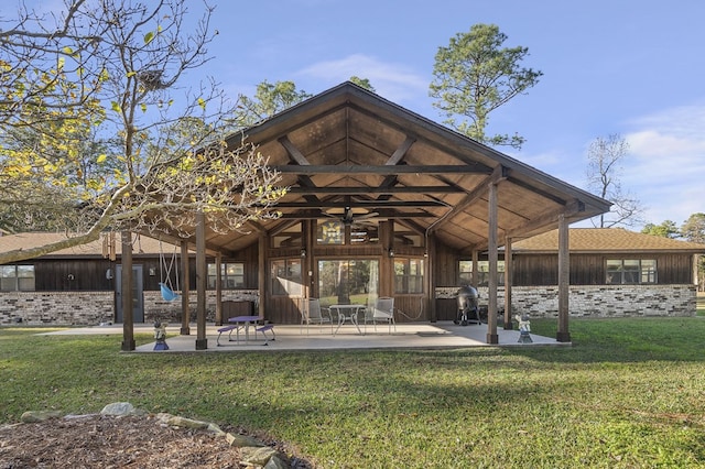
<path fill-rule="evenodd" d="M 297 73 L 313 79 L 339 84 L 351 76 L 367 78 L 378 95 L 392 102 L 416 100 L 429 90 L 429 79 L 402 64 L 381 62 L 365 54 L 318 62 Z"/>

